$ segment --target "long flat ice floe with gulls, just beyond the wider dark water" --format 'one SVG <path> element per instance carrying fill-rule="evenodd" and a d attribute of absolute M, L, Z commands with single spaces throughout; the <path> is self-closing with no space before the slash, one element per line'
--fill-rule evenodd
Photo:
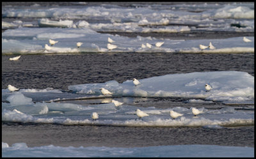
<path fill-rule="evenodd" d="M 115 39 L 116 49 L 108 49 L 108 38 Z M 164 45 L 156 47 L 159 39 L 152 37 L 129 38 L 111 34 L 100 34 L 92 29 L 80 28 L 28 28 L 8 29 L 2 33 L 2 54 L 47 54 L 47 53 L 81 53 L 81 52 L 165 52 L 165 53 L 253 53 L 254 38 L 250 43 L 243 41 L 243 37 L 209 40 L 161 40 Z M 54 46 L 49 39 L 56 40 Z M 83 45 L 77 48 L 76 43 Z M 215 49 L 201 50 L 199 45 L 214 45 Z M 148 47 L 141 47 L 147 44 Z M 46 45 L 48 45 L 46 47 Z M 149 47 L 151 45 L 151 47 Z"/>

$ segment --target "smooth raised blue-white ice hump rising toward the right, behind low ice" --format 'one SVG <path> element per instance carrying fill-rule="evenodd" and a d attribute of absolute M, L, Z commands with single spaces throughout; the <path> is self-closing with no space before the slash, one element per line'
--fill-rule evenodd
<path fill-rule="evenodd" d="M 104 87 L 113 96 L 204 98 L 221 102 L 254 99 L 254 77 L 246 72 L 177 73 L 140 79 L 140 82 L 134 87 L 132 79 L 123 83 L 111 80 L 99 84 L 72 85 L 68 89 L 88 95 L 100 95 L 99 89 Z M 211 85 L 211 91 L 205 91 L 205 84 Z"/>

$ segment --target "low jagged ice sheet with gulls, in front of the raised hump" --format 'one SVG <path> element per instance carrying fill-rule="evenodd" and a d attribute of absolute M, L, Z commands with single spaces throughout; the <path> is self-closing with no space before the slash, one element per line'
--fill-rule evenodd
<path fill-rule="evenodd" d="M 108 125 L 108 126 L 241 126 L 253 125 L 254 113 L 237 111 L 227 107 L 220 110 L 202 110 L 202 114 L 194 116 L 191 109 L 174 107 L 172 109 L 156 109 L 155 107 L 139 108 L 149 116 L 139 119 L 136 109 L 131 105 L 115 106 L 114 103 L 94 105 L 77 105 L 73 103 L 35 103 L 27 105 L 11 105 L 2 103 L 2 121 L 19 123 L 52 123 L 61 125 Z M 182 117 L 172 119 L 170 110 Z M 92 112 L 99 114 L 93 121 Z"/>

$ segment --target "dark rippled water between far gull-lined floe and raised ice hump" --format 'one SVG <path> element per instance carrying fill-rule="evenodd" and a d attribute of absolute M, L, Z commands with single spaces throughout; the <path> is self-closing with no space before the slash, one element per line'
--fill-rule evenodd
<path fill-rule="evenodd" d="M 2 88 L 68 90 L 74 84 L 145 79 L 190 72 L 241 71 L 254 76 L 254 54 L 108 53 L 2 56 Z"/>

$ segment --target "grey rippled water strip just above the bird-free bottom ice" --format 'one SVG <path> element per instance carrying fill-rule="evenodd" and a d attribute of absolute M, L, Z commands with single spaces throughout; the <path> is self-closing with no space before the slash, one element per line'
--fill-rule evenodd
<path fill-rule="evenodd" d="M 26 142 L 29 147 L 49 144 L 63 147 L 122 148 L 182 144 L 254 147 L 254 126 L 211 129 L 2 123 L 2 142 L 8 142 L 9 145 L 15 142 Z"/>

